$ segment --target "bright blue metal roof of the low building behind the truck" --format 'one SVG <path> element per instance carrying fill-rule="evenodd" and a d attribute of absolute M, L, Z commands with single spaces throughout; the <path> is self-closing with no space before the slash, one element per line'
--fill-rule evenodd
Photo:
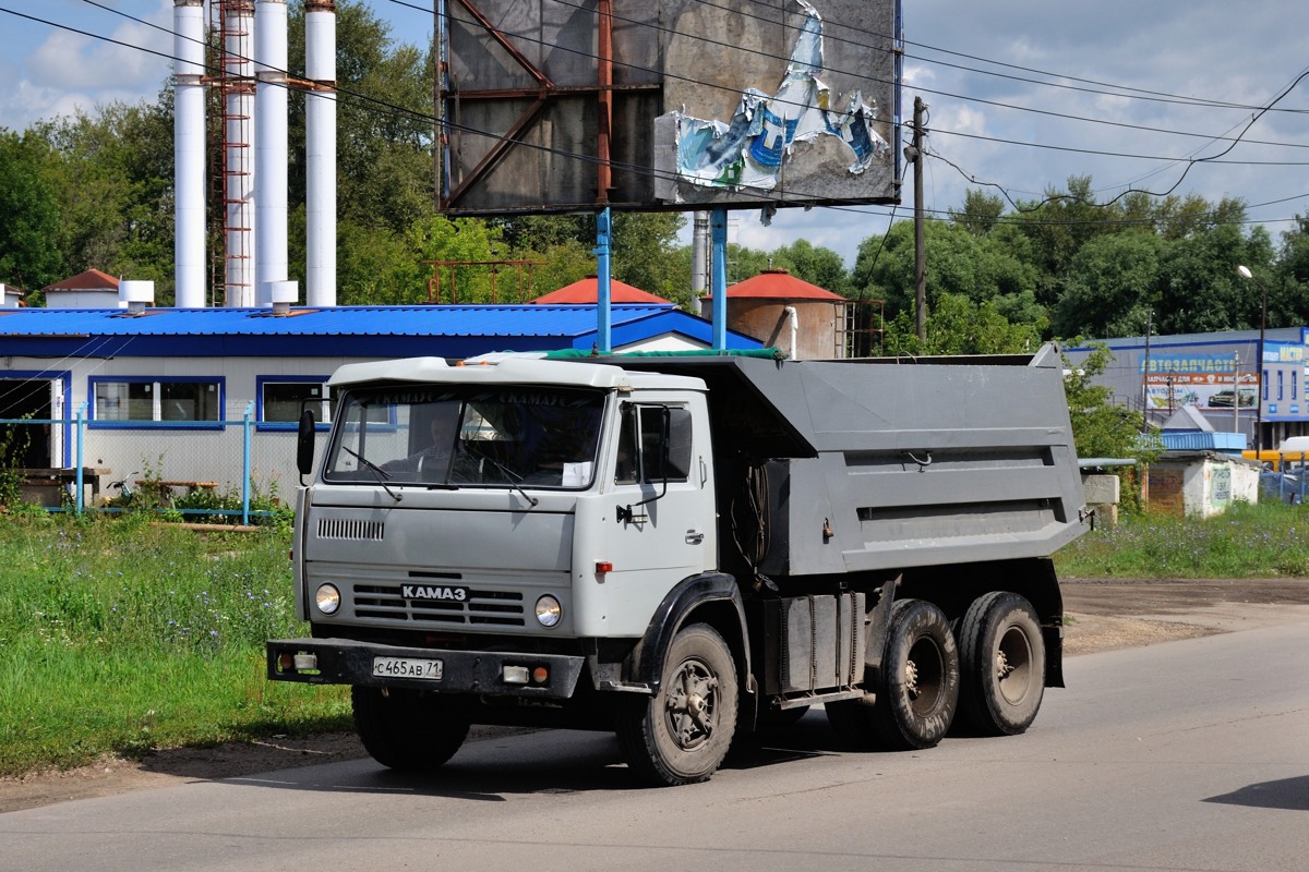
<path fill-rule="evenodd" d="M 610 310 L 611 341 L 679 333 L 711 345 L 712 324 L 673 306 Z M 332 306 L 292 309 L 0 310 L 0 354 L 469 357 L 492 350 L 590 349 L 596 306 Z M 346 345 L 348 344 L 348 346 Z M 728 331 L 728 348 L 759 348 Z"/>

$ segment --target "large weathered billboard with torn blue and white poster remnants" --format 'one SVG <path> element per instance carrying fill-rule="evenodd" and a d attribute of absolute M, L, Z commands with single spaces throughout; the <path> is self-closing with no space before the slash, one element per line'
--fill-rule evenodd
<path fill-rule="evenodd" d="M 689 7 L 689 0 L 541 0 L 534 4 L 442 0 L 439 9 L 441 65 L 437 77 L 439 140 L 442 149 L 440 208 L 458 214 L 513 214 L 603 208 L 651 212 L 899 203 L 901 0 L 812 1 L 835 8 L 846 18 L 853 14 L 852 10 L 873 8 L 882 18 L 870 16 L 870 20 L 886 21 L 894 33 L 876 34 L 840 20 L 825 22 L 810 0 L 724 0 L 721 5 L 699 3 L 694 7 Z M 717 12 L 704 13 L 707 7 Z M 690 78 L 665 72 L 669 43 L 683 38 L 726 46 L 669 26 L 669 22 L 677 22 L 678 16 L 690 14 L 686 12 L 689 8 L 702 18 L 712 14 L 724 21 L 728 16 L 757 18 L 763 24 L 754 24 L 755 30 L 767 31 L 772 38 L 768 44 L 779 42 L 779 33 L 788 38 L 800 34 L 796 47 L 791 50 L 783 85 L 772 95 L 778 101 L 783 99 L 787 80 L 798 69 L 809 86 L 810 102 L 819 106 L 810 82 L 823 88 L 829 72 L 822 68 L 822 35 L 813 55 L 817 60 L 801 58 L 800 39 L 805 27 L 796 26 L 793 20 L 817 20 L 821 22 L 818 27 L 831 26 L 840 33 L 882 39 L 885 46 L 850 48 L 850 38 L 831 38 L 847 65 L 852 59 L 859 60 L 857 52 L 890 55 L 889 61 L 880 61 L 889 73 L 864 80 L 872 82 L 869 88 L 880 88 L 878 93 L 885 97 L 873 101 L 878 159 L 872 170 L 860 175 L 869 162 L 857 170 L 853 166 L 833 170 L 833 158 L 825 157 L 827 163 L 821 170 L 825 175 L 810 176 L 818 183 L 805 188 L 798 171 L 789 170 L 793 176 L 787 179 L 787 167 L 792 162 L 792 148 L 805 148 L 810 143 L 788 139 L 781 144 L 784 154 L 778 163 L 783 182 L 791 184 L 789 190 L 785 184 L 779 190 L 742 184 L 740 175 L 723 174 L 728 182 L 709 178 L 717 166 L 700 179 L 683 175 L 681 154 L 686 149 L 681 144 L 686 131 L 695 131 L 703 141 L 713 144 L 721 136 L 720 131 L 729 127 L 736 131 L 742 118 L 749 123 L 751 111 L 755 119 L 764 118 L 764 112 L 755 106 L 761 97 L 767 97 L 754 86 L 742 90 L 730 126 L 716 119 L 690 118 L 685 111 L 664 111 L 670 98 L 685 98 L 687 89 L 695 88 L 694 82 L 686 84 Z M 771 20 L 759 16 L 761 9 L 768 12 Z M 772 71 L 774 76 L 779 63 L 788 60 L 776 51 L 751 55 L 749 50 L 736 46 L 723 51 L 738 64 L 758 59 L 759 65 Z M 550 64 L 559 67 L 560 75 L 552 75 Z M 863 118 L 855 111 L 861 92 L 857 85 L 850 85 L 850 81 L 857 82 L 857 77 L 842 69 L 831 73 L 842 80 L 842 88 L 834 89 L 831 99 L 847 101 L 848 109 L 830 109 L 829 93 L 822 92 L 817 111 L 829 127 L 822 129 L 823 122 L 818 122 L 819 135 L 836 132 L 830 120 L 838 115 L 846 119 L 847 133 L 850 119 L 855 118 L 857 128 Z M 891 81 L 885 81 L 885 76 Z M 738 78 L 762 82 L 766 75 L 761 78 L 758 71 L 749 71 L 749 75 L 740 73 Z M 721 85 L 716 89 L 724 90 Z M 750 105 L 747 99 L 755 103 Z M 721 99 L 717 102 L 721 105 Z M 870 106 L 860 103 L 857 109 L 868 115 Z M 781 122 L 795 124 L 795 119 L 783 118 Z M 759 122 L 754 124 L 758 129 Z M 870 116 L 867 128 L 873 129 Z M 856 129 L 856 133 L 863 131 Z M 851 139 L 859 136 L 844 136 L 847 148 Z M 867 133 L 863 139 L 868 139 Z"/>

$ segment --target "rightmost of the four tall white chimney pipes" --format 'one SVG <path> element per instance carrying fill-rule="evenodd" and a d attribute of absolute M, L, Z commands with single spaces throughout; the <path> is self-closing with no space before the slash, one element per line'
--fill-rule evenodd
<path fill-rule="evenodd" d="M 336 305 L 336 5 L 305 3 L 305 303 Z"/>

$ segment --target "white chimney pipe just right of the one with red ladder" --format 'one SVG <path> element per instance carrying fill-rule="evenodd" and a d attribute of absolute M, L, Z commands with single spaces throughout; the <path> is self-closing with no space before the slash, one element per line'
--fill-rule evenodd
<path fill-rule="evenodd" d="M 255 5 L 255 303 L 287 280 L 287 0 Z"/>

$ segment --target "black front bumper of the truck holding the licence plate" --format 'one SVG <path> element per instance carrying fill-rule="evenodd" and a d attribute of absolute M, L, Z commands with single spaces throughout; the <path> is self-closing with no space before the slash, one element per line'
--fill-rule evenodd
<path fill-rule="evenodd" d="M 577 688 L 584 656 L 563 654 L 518 654 L 508 651 L 446 651 L 374 645 L 353 639 L 274 639 L 266 646 L 270 681 L 304 684 L 350 684 L 376 688 L 410 688 L 432 693 L 473 693 L 538 699 L 568 699 Z M 314 668 L 297 668 L 296 655 L 313 655 Z M 440 679 L 407 679 L 373 675 L 376 658 L 440 660 Z M 531 673 L 543 667 L 543 684 L 505 681 L 505 667 L 526 667 Z"/>

